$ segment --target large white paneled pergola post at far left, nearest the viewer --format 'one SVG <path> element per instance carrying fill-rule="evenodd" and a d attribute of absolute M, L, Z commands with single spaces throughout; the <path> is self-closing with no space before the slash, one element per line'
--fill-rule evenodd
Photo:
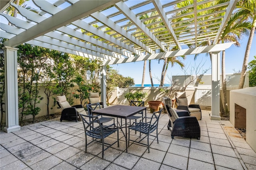
<path fill-rule="evenodd" d="M 17 48 L 3 47 L 5 69 L 5 106 L 7 133 L 20 130 L 18 110 Z"/>

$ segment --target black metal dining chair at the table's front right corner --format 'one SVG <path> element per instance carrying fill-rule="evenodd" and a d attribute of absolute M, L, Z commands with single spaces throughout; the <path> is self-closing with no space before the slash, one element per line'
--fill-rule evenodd
<path fill-rule="evenodd" d="M 129 126 L 129 134 L 128 134 L 128 146 L 130 145 L 130 129 L 134 130 L 134 131 L 139 131 L 140 132 L 140 137 L 141 137 L 141 133 L 144 133 L 146 136 L 143 137 L 142 139 L 140 139 L 140 141 L 133 141 L 136 143 L 140 143 L 142 145 L 146 145 L 144 143 L 141 143 L 141 141 L 148 137 L 148 143 L 146 146 L 148 146 L 148 153 L 149 151 L 149 136 L 153 136 L 156 137 L 157 139 L 157 143 L 158 143 L 158 121 L 159 121 L 159 117 L 161 115 L 162 109 L 160 109 L 159 111 L 155 111 L 152 114 L 152 117 L 144 117 L 143 119 L 145 119 L 144 122 L 142 122 L 143 120 L 141 120 L 139 123 L 137 122 L 133 122 L 133 124 L 131 126 Z M 146 121 L 147 119 L 150 119 L 150 121 Z M 156 136 L 154 135 L 150 135 L 150 133 L 154 132 L 156 130 Z"/>

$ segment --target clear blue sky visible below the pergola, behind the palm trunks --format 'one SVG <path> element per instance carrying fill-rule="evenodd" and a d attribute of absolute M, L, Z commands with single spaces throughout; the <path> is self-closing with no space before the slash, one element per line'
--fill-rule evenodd
<path fill-rule="evenodd" d="M 226 74 L 233 74 L 238 72 L 239 70 L 242 70 L 242 64 L 244 61 L 244 53 L 246 50 L 246 45 L 247 45 L 248 37 L 244 37 L 240 41 L 241 47 L 235 47 L 232 45 L 229 49 L 226 49 Z M 252 41 L 252 47 L 250 50 L 250 57 L 248 60 L 248 63 L 254 59 L 254 56 L 256 55 L 256 37 L 254 37 Z M 222 56 L 222 53 L 221 53 Z M 220 57 L 221 57 L 220 56 Z M 221 64 L 221 59 L 220 58 L 220 64 Z M 202 74 L 203 70 L 207 70 L 208 68 L 211 68 L 211 62 L 210 62 L 210 57 L 206 56 L 206 54 L 200 54 L 196 61 L 194 61 L 194 55 L 189 55 L 186 56 L 186 59 L 183 60 L 180 58 L 182 62 L 185 64 L 185 67 L 188 68 L 187 73 L 191 74 L 190 68 L 195 67 L 196 65 L 198 66 L 198 63 L 200 64 L 201 70 L 198 72 L 198 74 Z M 195 63 L 197 63 L 195 65 Z M 135 84 L 141 84 L 142 82 L 142 71 L 143 71 L 143 65 L 144 61 L 139 61 L 139 62 L 133 62 L 133 63 L 124 63 L 124 64 L 114 64 L 111 65 L 114 69 L 117 69 L 120 74 L 123 76 L 130 76 L 134 78 Z M 161 77 L 161 72 L 162 72 L 162 66 L 163 66 L 163 61 L 160 61 L 158 63 L 158 60 L 152 60 L 151 61 L 151 72 L 153 76 L 153 82 L 154 84 L 159 84 L 159 81 L 157 77 L 160 79 Z M 195 74 L 195 72 L 192 72 Z M 168 76 L 176 76 L 176 75 L 184 75 L 184 72 L 181 70 L 180 66 L 174 65 L 173 67 L 169 66 L 168 67 Z M 208 70 L 205 74 L 211 74 L 211 69 Z M 166 77 L 165 83 L 168 84 L 170 80 Z M 150 76 L 148 72 L 148 61 L 147 61 L 147 70 L 146 70 L 146 77 L 144 84 L 151 84 L 150 82 Z"/>

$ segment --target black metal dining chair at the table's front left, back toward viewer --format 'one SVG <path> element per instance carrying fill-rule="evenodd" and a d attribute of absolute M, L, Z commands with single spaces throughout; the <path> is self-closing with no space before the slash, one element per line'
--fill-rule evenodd
<path fill-rule="evenodd" d="M 98 116 L 92 116 L 92 115 L 83 115 L 80 114 L 80 119 L 82 119 L 83 125 L 84 125 L 84 134 L 85 134 L 85 152 L 87 153 L 87 145 L 89 145 L 92 142 L 99 142 L 102 143 L 102 159 L 104 158 L 104 150 L 108 149 L 112 145 L 114 145 L 116 142 L 118 143 L 119 147 L 119 133 L 118 128 L 112 127 L 113 125 L 105 126 L 100 123 L 100 119 Z M 87 117 L 87 120 L 86 120 Z M 88 120 L 89 119 L 89 120 Z M 98 126 L 94 127 L 94 123 L 97 123 Z M 112 133 L 115 133 L 117 131 L 117 141 L 115 141 L 112 144 L 104 143 L 104 139 L 111 135 Z M 92 137 L 92 141 L 90 143 L 87 143 L 87 136 Z M 100 140 L 97 140 L 100 139 Z M 104 149 L 104 145 L 108 145 Z"/>

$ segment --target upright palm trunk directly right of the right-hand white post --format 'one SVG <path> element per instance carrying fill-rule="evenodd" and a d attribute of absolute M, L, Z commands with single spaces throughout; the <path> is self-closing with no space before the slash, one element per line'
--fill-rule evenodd
<path fill-rule="evenodd" d="M 224 117 L 228 117 L 228 102 L 227 102 L 227 86 L 226 86 L 226 70 L 225 70 L 225 51 L 222 51 L 222 93 L 223 93 L 223 106 L 225 114 Z"/>

